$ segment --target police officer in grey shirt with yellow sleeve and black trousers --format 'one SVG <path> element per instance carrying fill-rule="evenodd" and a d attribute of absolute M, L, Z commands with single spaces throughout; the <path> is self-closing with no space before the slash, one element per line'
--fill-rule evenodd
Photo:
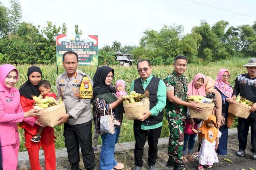
<path fill-rule="evenodd" d="M 58 97 L 62 97 L 67 114 L 58 118 L 58 124 L 64 123 L 65 145 L 71 170 L 79 170 L 79 146 L 83 156 L 84 167 L 93 170 L 95 156 L 91 147 L 91 104 L 93 81 L 77 69 L 78 56 L 73 51 L 63 55 L 65 68 L 57 78 Z"/>

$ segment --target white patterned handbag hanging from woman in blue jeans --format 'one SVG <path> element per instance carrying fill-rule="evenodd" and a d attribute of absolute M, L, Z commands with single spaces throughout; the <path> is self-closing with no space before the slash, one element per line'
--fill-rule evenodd
<path fill-rule="evenodd" d="M 100 132 L 101 135 L 103 134 L 114 134 L 115 133 L 115 127 L 113 122 L 113 113 L 112 113 L 112 107 L 110 105 L 110 114 L 105 115 L 105 106 L 104 106 L 104 115 L 100 117 Z"/>

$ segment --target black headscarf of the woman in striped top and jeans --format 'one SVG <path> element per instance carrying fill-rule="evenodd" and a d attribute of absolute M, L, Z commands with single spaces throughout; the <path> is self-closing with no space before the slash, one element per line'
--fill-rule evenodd
<path fill-rule="evenodd" d="M 114 76 L 114 69 L 109 66 L 101 66 L 97 68 L 93 76 L 93 97 L 95 97 L 97 94 L 105 94 L 108 92 L 116 93 L 116 89 L 114 89 L 111 84 L 105 84 L 106 76 L 108 76 L 109 72 L 111 71 Z"/>

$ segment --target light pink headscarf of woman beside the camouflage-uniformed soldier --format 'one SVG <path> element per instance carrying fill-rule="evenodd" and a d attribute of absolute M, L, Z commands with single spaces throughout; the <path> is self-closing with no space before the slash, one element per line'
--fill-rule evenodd
<path fill-rule="evenodd" d="M 203 78 L 203 85 L 198 89 L 196 88 L 195 84 L 199 78 Z M 188 91 L 187 94 L 196 96 L 201 95 L 205 96 L 205 90 L 204 90 L 204 84 L 205 84 L 205 76 L 201 73 L 198 73 L 195 75 L 194 79 L 188 84 Z"/>

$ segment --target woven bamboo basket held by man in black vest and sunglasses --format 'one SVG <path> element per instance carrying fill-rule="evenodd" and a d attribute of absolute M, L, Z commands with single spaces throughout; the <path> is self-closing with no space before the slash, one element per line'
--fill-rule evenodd
<path fill-rule="evenodd" d="M 142 117 L 143 111 L 149 111 L 149 100 L 145 100 L 137 103 L 124 103 L 124 109 L 127 120 L 135 120 Z"/>

